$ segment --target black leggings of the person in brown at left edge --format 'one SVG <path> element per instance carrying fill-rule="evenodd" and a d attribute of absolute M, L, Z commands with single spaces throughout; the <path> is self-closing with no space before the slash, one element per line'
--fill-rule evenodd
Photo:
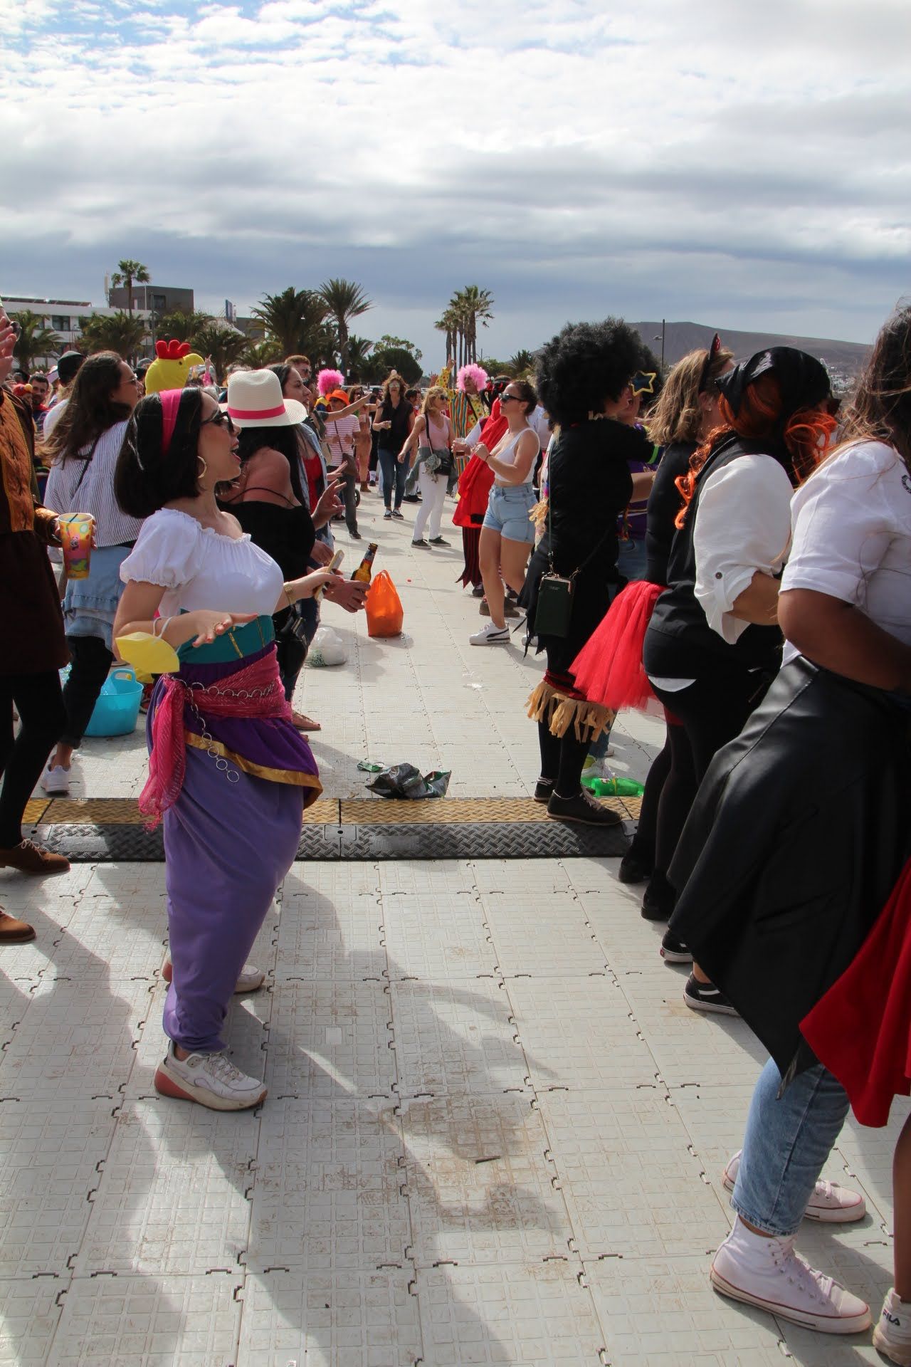
<path fill-rule="evenodd" d="M 12 708 L 22 726 L 15 735 Z M 22 839 L 22 813 L 38 782 L 51 748 L 67 722 L 56 670 L 0 677 L 0 848 Z"/>

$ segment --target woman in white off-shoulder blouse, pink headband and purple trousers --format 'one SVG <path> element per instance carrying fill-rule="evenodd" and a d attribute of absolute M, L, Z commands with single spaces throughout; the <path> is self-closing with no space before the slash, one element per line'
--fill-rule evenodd
<path fill-rule="evenodd" d="M 154 1085 L 214 1110 L 265 1096 L 231 1064 L 221 1028 L 238 980 L 262 982 L 240 976 L 244 961 L 320 794 L 279 678 L 273 614 L 322 585 L 350 611 L 363 603 L 361 585 L 326 570 L 283 580 L 219 507 L 216 489 L 240 469 L 236 446 L 231 417 L 206 394 L 165 390 L 138 405 L 115 480 L 122 507 L 146 519 L 120 567 L 115 638 L 127 653 L 138 637 L 164 656 L 139 797 L 146 817 L 164 819 L 173 965 Z"/>

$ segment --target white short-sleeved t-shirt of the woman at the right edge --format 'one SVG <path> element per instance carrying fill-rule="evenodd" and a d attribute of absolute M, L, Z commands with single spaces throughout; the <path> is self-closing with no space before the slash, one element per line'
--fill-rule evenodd
<path fill-rule="evenodd" d="M 892 447 L 844 447 L 798 489 L 791 515 L 783 592 L 813 589 L 851 603 L 911 645 L 911 474 Z M 785 662 L 798 653 L 785 645 Z"/>

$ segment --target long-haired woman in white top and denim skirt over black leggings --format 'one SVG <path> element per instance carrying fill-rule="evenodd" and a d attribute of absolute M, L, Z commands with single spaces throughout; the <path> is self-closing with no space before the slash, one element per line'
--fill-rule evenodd
<path fill-rule="evenodd" d="M 67 725 L 41 775 L 45 793 L 70 790 L 72 752 L 85 729 L 108 671 L 113 664 L 111 627 L 123 585 L 120 562 L 139 534 L 141 522 L 128 517 L 113 496 L 113 472 L 127 420 L 137 405 L 132 366 L 115 351 L 87 357 L 46 444 L 52 462 L 45 500 L 57 513 L 90 513 L 94 550 L 87 580 L 70 580 L 63 600 L 70 675 L 63 689 Z"/>

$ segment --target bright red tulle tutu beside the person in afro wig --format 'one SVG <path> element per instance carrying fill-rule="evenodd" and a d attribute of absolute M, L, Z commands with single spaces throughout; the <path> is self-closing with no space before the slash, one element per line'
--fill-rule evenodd
<path fill-rule="evenodd" d="M 572 662 L 575 685 L 589 703 L 612 712 L 632 707 L 664 716 L 642 667 L 645 633 L 661 593 L 664 588 L 647 580 L 627 584 L 576 655 Z"/>

